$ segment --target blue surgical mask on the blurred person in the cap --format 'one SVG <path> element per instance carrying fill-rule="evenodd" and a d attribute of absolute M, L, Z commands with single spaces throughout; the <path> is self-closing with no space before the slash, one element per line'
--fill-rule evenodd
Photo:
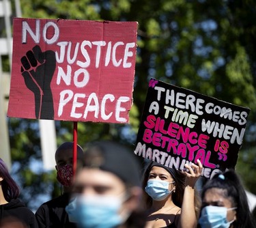
<path fill-rule="evenodd" d="M 121 206 L 121 197 L 78 195 L 67 205 L 66 212 L 70 222 L 79 228 L 112 228 L 124 222 L 118 214 Z"/>

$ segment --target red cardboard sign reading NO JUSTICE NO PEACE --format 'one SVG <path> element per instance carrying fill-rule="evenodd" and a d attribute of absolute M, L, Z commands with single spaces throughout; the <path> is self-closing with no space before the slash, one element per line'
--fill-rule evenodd
<path fill-rule="evenodd" d="M 14 18 L 9 117 L 127 123 L 137 22 Z"/>

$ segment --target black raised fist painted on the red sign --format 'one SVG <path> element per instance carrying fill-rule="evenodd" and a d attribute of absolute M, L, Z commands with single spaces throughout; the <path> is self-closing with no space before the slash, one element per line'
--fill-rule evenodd
<path fill-rule="evenodd" d="M 56 68 L 55 52 L 49 50 L 43 53 L 40 46 L 36 45 L 20 61 L 25 84 L 35 96 L 35 117 L 53 119 L 51 81 Z"/>

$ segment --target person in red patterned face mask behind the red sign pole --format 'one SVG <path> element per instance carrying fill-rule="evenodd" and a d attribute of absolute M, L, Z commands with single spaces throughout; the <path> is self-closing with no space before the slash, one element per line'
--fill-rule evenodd
<path fill-rule="evenodd" d="M 77 145 L 77 168 L 80 167 L 81 158 L 83 158 L 83 149 Z M 76 227 L 74 223 L 68 220 L 68 214 L 65 211 L 66 205 L 70 199 L 70 190 L 73 179 L 73 143 L 62 143 L 55 152 L 57 180 L 63 187 L 63 194 L 55 199 L 51 199 L 40 205 L 35 212 L 35 218 L 39 228 L 51 227 Z"/>

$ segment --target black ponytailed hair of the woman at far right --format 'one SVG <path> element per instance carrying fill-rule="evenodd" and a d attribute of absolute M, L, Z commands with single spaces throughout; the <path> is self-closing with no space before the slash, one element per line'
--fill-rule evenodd
<path fill-rule="evenodd" d="M 205 192 L 210 188 L 221 188 L 225 190 L 225 197 L 231 199 L 232 207 L 236 207 L 237 219 L 232 223 L 236 228 L 253 227 L 253 218 L 248 206 L 248 199 L 242 186 L 240 177 L 235 171 L 229 170 L 224 173 L 214 175 L 212 180 L 208 180 L 201 193 L 203 199 Z"/>

